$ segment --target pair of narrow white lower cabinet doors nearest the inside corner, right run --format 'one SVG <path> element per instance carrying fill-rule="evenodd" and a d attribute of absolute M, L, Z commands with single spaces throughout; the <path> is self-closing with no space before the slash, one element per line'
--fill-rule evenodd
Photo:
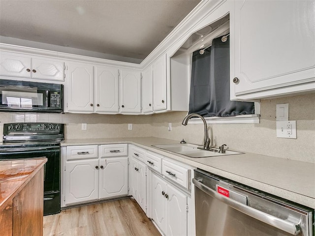
<path fill-rule="evenodd" d="M 130 157 L 131 195 L 146 213 L 146 165 Z"/>

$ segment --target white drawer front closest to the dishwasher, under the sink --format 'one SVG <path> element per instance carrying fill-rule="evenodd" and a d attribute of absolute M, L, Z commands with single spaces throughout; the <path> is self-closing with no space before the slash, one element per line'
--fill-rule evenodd
<path fill-rule="evenodd" d="M 177 163 L 164 160 L 162 161 L 162 174 L 165 177 L 173 180 L 174 182 L 182 185 L 185 188 L 189 188 L 190 170 L 184 168 Z"/>

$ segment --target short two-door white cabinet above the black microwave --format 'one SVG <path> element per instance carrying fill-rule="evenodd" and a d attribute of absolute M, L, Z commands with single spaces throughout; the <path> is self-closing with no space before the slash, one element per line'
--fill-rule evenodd
<path fill-rule="evenodd" d="M 64 63 L 55 59 L 0 52 L 0 75 L 63 81 Z"/>

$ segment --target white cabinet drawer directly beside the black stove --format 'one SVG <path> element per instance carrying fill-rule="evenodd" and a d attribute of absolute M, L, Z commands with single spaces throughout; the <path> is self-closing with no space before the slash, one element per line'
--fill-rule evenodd
<path fill-rule="evenodd" d="M 97 158 L 97 145 L 67 146 L 67 161 Z"/>

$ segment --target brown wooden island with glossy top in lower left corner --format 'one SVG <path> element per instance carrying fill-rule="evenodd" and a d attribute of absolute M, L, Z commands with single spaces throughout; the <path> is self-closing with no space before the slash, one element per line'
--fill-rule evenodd
<path fill-rule="evenodd" d="M 1 161 L 1 236 L 43 235 L 46 162 L 46 158 Z"/>

